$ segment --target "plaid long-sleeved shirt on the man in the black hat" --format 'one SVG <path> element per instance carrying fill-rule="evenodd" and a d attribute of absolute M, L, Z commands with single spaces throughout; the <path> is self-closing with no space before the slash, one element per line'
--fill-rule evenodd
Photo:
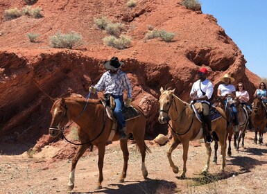
<path fill-rule="evenodd" d="M 96 91 L 105 89 L 105 94 L 122 96 L 123 90 L 127 90 L 127 97 L 132 98 L 132 86 L 126 73 L 118 69 L 117 73 L 112 74 L 110 71 L 103 73 L 98 83 L 94 86 Z"/>

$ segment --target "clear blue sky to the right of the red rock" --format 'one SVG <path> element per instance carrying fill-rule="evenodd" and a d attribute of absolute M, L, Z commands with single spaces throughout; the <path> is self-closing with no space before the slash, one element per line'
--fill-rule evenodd
<path fill-rule="evenodd" d="M 246 67 L 267 78 L 267 0 L 199 0 L 202 12 L 213 15 L 218 25 L 239 47 Z"/>

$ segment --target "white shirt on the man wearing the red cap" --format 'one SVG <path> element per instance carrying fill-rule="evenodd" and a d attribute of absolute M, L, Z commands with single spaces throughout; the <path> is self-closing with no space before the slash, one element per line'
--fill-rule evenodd
<path fill-rule="evenodd" d="M 202 91 L 200 90 L 200 87 L 202 89 L 202 91 L 204 91 L 206 93 L 206 95 L 202 94 Z M 207 96 L 207 98 L 211 98 L 212 94 L 213 94 L 213 85 L 212 82 L 210 82 L 209 80 L 205 80 L 204 82 L 201 82 L 200 80 L 197 80 L 196 82 L 193 83 L 192 89 L 190 91 L 190 94 L 193 94 L 194 91 L 197 92 L 197 96 L 198 98 L 202 98 L 203 96 Z M 207 100 L 197 100 L 197 102 L 207 102 Z"/>

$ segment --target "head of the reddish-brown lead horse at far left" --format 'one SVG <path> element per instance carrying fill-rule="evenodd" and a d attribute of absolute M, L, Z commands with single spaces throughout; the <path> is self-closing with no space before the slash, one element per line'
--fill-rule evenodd
<path fill-rule="evenodd" d="M 52 121 L 49 127 L 51 136 L 58 136 L 62 133 L 62 127 L 68 122 L 67 105 L 64 98 L 58 99 L 51 108 Z"/>

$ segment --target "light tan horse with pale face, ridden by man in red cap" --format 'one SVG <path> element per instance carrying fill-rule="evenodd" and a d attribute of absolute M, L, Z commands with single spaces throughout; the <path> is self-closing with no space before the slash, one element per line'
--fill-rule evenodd
<path fill-rule="evenodd" d="M 187 172 L 187 155 L 189 149 L 189 141 L 203 138 L 203 134 L 198 136 L 200 132 L 200 128 L 202 127 L 202 123 L 198 121 L 198 118 L 193 113 L 193 109 L 191 109 L 190 105 L 180 98 L 173 94 L 175 89 L 173 90 L 164 90 L 162 87 L 160 88 L 161 96 L 160 96 L 160 116 L 159 121 L 162 124 L 168 123 L 169 119 L 171 119 L 171 134 L 173 138 L 171 139 L 171 146 L 167 151 L 167 157 L 169 159 L 169 164 L 173 169 L 173 173 L 178 173 L 179 168 L 173 164 L 173 160 L 171 159 L 171 153 L 177 146 L 182 143 L 183 154 L 182 159 L 184 161 L 184 166 L 182 170 L 181 177 L 185 177 L 185 173 Z M 216 107 L 217 111 L 225 117 L 225 113 L 223 109 L 220 107 Z M 218 139 L 221 143 L 221 152 L 223 155 L 223 161 L 221 170 L 225 168 L 225 138 L 226 138 L 226 127 L 227 123 L 225 118 L 218 118 L 212 122 L 212 131 L 215 131 Z M 201 132 L 200 132 L 201 133 Z M 197 138 L 196 138 L 197 137 Z M 207 174 L 209 169 L 209 160 L 212 153 L 212 148 L 209 143 L 205 143 L 206 152 L 207 152 L 207 164 L 203 169 L 203 174 Z"/>

